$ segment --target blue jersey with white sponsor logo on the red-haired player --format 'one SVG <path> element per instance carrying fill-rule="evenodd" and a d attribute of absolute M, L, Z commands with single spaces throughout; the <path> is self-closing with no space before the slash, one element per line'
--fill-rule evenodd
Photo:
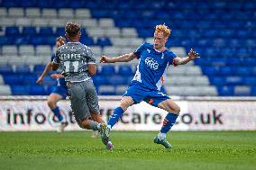
<path fill-rule="evenodd" d="M 153 48 L 151 43 L 143 43 L 134 52 L 140 58 L 137 71 L 132 80 L 132 85 L 138 82 L 152 90 L 160 90 L 164 82 L 169 65 L 177 56 L 170 50 L 162 52 Z"/>

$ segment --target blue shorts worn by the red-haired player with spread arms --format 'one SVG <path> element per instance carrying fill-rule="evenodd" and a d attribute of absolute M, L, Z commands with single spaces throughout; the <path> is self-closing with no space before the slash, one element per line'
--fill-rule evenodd
<path fill-rule="evenodd" d="M 123 96 L 132 97 L 135 104 L 144 101 L 156 107 L 159 103 L 170 99 L 167 94 L 162 94 L 158 90 L 149 89 L 141 83 L 133 83 L 130 85 Z"/>

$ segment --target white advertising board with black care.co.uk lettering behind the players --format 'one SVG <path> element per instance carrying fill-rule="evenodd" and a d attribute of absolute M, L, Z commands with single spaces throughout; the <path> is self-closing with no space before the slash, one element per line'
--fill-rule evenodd
<path fill-rule="evenodd" d="M 100 112 L 105 121 L 118 106 L 120 96 L 100 96 Z M 181 107 L 172 130 L 256 130 L 256 98 L 174 97 Z M 81 130 L 75 122 L 69 100 L 59 108 L 69 121 L 67 130 Z M 167 112 L 147 103 L 131 106 L 114 130 L 160 130 Z M 45 96 L 1 96 L 0 130 L 57 130 L 59 123 Z"/>

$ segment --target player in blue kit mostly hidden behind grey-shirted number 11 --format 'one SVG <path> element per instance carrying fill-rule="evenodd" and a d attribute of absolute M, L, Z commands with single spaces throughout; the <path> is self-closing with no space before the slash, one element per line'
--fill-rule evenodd
<path fill-rule="evenodd" d="M 56 49 L 64 44 L 65 44 L 65 38 L 58 37 L 56 39 L 56 43 L 55 43 Z M 53 58 L 55 58 L 55 54 L 51 55 L 51 61 L 53 60 Z M 41 76 L 38 77 L 36 83 L 41 84 L 41 82 L 43 81 L 43 77 L 46 76 L 50 71 L 51 71 L 51 62 L 49 62 L 46 65 L 43 72 L 41 73 Z M 58 84 L 50 93 L 47 99 L 47 103 L 50 107 L 50 110 L 54 113 L 54 115 L 58 118 L 60 122 L 58 132 L 62 132 L 68 126 L 68 121 L 66 120 L 66 117 L 60 113 L 59 106 L 57 105 L 57 103 L 62 99 L 66 99 L 68 90 L 67 90 L 64 76 L 62 76 L 61 74 L 52 74 L 50 76 L 52 78 L 57 79 Z"/>

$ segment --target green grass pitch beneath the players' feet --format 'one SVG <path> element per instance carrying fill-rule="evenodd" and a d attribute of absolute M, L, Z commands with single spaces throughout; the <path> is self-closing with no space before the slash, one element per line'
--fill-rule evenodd
<path fill-rule="evenodd" d="M 256 169 L 256 131 L 171 132 L 172 150 L 157 133 L 113 131 L 108 151 L 90 131 L 0 132 L 0 169 Z"/>

